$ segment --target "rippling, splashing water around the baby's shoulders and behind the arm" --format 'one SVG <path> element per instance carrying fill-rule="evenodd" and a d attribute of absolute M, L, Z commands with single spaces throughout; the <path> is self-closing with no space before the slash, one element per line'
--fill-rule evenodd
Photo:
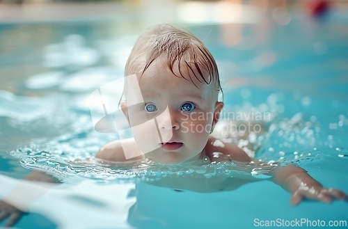
<path fill-rule="evenodd" d="M 232 138 L 230 135 L 223 140 L 239 145 L 249 154 L 254 154 L 259 160 L 253 164 L 238 164 L 222 160 L 209 163 L 204 159 L 198 164 L 182 164 L 180 166 L 163 166 L 145 160 L 139 166 L 129 168 L 125 164 L 107 164 L 94 158 L 97 151 L 109 141 L 117 139 L 117 134 L 100 134 L 94 131 L 90 117 L 86 115 L 74 116 L 74 123 L 70 129 L 60 136 L 40 138 L 31 141 L 26 148 L 13 150 L 11 155 L 20 159 L 25 168 L 35 168 L 52 174 L 64 182 L 92 179 L 97 182 L 134 182 L 143 179 L 161 179 L 168 176 L 180 177 L 212 177 L 235 175 L 252 176 L 259 179 L 268 179 L 271 172 L 278 166 L 287 164 L 303 165 L 310 161 L 322 159 L 324 155 L 338 155 L 347 158 L 344 148 L 329 147 L 333 145 L 334 135 L 326 134 L 328 146 L 318 145 L 319 133 L 322 126 L 315 116 L 307 120 L 303 113 L 297 113 L 292 118 L 277 120 L 278 95 L 270 95 L 267 105 L 255 108 L 256 111 L 271 111 L 273 119 L 264 123 L 262 134 L 249 133 L 247 138 Z M 252 106 L 242 107 L 239 110 L 253 109 Z M 236 109 L 237 110 L 237 109 Z M 72 112 L 70 111 L 70 114 Z M 66 116 L 65 116 L 66 117 Z M 346 119 L 340 116 L 340 121 Z M 56 120 L 48 120 L 55 123 Z M 266 127 L 269 126 L 268 129 Z M 58 127 L 54 127 L 57 129 Z M 219 129 L 217 127 L 216 129 Z M 233 133 L 232 133 L 233 134 Z M 237 140 L 236 140 L 237 139 Z M 222 143 L 222 142 L 221 142 Z M 250 151 L 248 151 L 250 150 Z M 217 155 L 219 157 L 219 155 Z M 262 162 L 266 161 L 266 162 Z"/>

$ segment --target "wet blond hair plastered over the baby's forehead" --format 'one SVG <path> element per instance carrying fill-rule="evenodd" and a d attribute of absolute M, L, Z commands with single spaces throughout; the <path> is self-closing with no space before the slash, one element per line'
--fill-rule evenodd
<path fill-rule="evenodd" d="M 171 72 L 173 65 L 177 63 L 180 76 L 173 72 L 175 76 L 186 80 L 190 77 L 194 84 L 192 74 L 183 74 L 192 72 L 200 83 L 214 82 L 216 90 L 222 91 L 218 68 L 212 54 L 196 37 L 169 24 L 151 26 L 138 38 L 127 60 L 125 76 L 143 74 L 159 56 L 165 57 Z"/>

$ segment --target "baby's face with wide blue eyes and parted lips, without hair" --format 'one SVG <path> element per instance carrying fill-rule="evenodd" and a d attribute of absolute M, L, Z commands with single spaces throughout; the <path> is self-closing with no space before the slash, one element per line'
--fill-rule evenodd
<path fill-rule="evenodd" d="M 125 109 L 134 139 L 146 157 L 161 164 L 200 157 L 212 131 L 214 112 L 222 108 L 216 102 L 213 82 L 208 85 L 200 79 L 201 83 L 186 71 L 182 74 L 188 80 L 183 79 L 174 66 L 179 77 L 157 58 L 138 76 L 141 95 L 132 88 L 126 93 L 126 103 L 136 104 Z"/>

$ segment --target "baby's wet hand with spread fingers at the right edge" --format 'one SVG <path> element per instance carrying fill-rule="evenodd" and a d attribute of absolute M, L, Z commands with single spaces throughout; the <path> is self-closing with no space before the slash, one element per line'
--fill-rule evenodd
<path fill-rule="evenodd" d="M 308 185 L 301 183 L 299 189 L 292 194 L 290 203 L 298 205 L 304 198 L 331 203 L 333 198 L 347 200 L 347 194 L 338 189 L 325 189 L 320 184 Z"/>

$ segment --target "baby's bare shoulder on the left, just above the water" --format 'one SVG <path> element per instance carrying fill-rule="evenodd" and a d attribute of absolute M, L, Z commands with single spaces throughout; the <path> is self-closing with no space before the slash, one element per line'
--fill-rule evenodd
<path fill-rule="evenodd" d="M 131 162 L 144 158 L 134 139 L 122 139 L 122 141 L 116 140 L 106 143 L 95 157 L 106 161 L 121 162 Z"/>

